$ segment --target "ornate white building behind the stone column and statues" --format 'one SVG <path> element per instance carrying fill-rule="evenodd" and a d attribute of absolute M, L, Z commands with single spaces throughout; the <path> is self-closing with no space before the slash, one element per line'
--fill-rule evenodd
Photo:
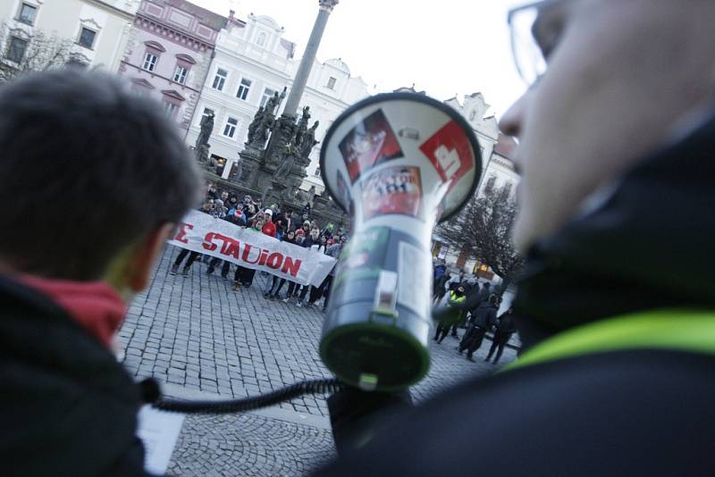
<path fill-rule="evenodd" d="M 283 32 L 270 17 L 250 14 L 247 21 L 240 21 L 231 13 L 216 40 L 214 61 L 189 127 L 187 143 L 193 145 L 196 141 L 203 116 L 214 113 L 210 155 L 219 164 L 217 172 L 224 178 L 229 177 L 239 160 L 248 137 L 248 125 L 258 107 L 265 105 L 274 92 L 290 90 L 300 62 L 295 58 L 296 44 L 283 38 Z M 332 121 L 366 96 L 365 81 L 351 76 L 348 65 L 340 59 L 316 61 L 300 106 L 310 106 L 311 123 L 320 121 L 315 137 L 322 140 Z M 315 146 L 307 178 L 301 185 L 304 189 L 315 185 L 318 194 L 324 190 L 318 167 L 319 151 L 320 145 Z"/>

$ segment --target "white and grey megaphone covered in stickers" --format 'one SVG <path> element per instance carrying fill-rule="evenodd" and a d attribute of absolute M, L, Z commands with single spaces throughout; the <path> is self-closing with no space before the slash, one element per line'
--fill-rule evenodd
<path fill-rule="evenodd" d="M 371 96 L 332 123 L 320 167 L 352 230 L 332 283 L 321 359 L 360 389 L 405 389 L 429 370 L 431 238 L 474 194 L 482 171 L 475 133 L 428 96 Z"/>

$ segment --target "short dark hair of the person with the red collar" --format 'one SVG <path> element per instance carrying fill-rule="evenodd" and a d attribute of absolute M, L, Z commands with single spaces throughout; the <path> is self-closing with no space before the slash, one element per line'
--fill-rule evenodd
<path fill-rule="evenodd" d="M 0 87 L 0 112 L 0 260 L 20 272 L 97 280 L 198 204 L 176 125 L 108 73 L 29 73 Z"/>

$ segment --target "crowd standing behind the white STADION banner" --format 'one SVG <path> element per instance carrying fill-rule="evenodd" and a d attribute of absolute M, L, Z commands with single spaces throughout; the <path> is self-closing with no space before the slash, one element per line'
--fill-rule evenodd
<path fill-rule="evenodd" d="M 254 230 L 257 233 L 263 233 L 299 247 L 310 248 L 317 253 L 330 255 L 336 259 L 341 255 L 342 247 L 348 241 L 347 233 L 343 233 L 340 228 L 334 227 L 331 223 L 321 228 L 311 216 L 310 205 L 306 205 L 301 213 L 282 211 L 279 205 L 271 204 L 266 207 L 261 203 L 260 199 L 254 200 L 249 195 L 238 197 L 226 190 L 219 192 L 214 184 L 209 184 L 206 188 L 204 202 L 198 210 L 217 219 L 231 222 L 241 228 Z M 185 248 L 181 249 L 172 264 L 171 273 L 187 276 L 191 265 L 200 255 L 198 252 L 189 251 Z M 207 265 L 207 275 L 211 275 L 216 269 L 220 269 L 223 279 L 229 280 L 230 262 L 208 255 L 203 256 L 202 262 Z M 183 268 L 180 272 L 182 263 Z M 235 264 L 233 266 L 235 267 L 233 290 L 238 291 L 250 288 L 253 284 L 256 270 Z M 334 273 L 335 269 L 333 267 L 330 274 L 318 287 L 300 285 L 294 281 L 273 275 L 268 280 L 264 297 L 270 300 L 281 299 L 283 303 L 294 302 L 299 307 L 304 304 L 315 305 L 321 298 L 324 298 L 322 305 L 324 311 L 330 297 Z M 282 295 L 281 291 L 286 282 L 288 282 L 288 285 Z"/>

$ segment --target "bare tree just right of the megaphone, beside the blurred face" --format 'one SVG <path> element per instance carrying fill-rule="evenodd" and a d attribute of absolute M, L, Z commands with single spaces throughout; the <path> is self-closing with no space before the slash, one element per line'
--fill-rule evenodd
<path fill-rule="evenodd" d="M 524 265 L 511 241 L 516 214 L 511 188 L 494 188 L 487 183 L 484 195 L 471 200 L 458 215 L 443 223 L 438 233 L 451 246 L 462 248 L 492 267 L 506 288 Z"/>

